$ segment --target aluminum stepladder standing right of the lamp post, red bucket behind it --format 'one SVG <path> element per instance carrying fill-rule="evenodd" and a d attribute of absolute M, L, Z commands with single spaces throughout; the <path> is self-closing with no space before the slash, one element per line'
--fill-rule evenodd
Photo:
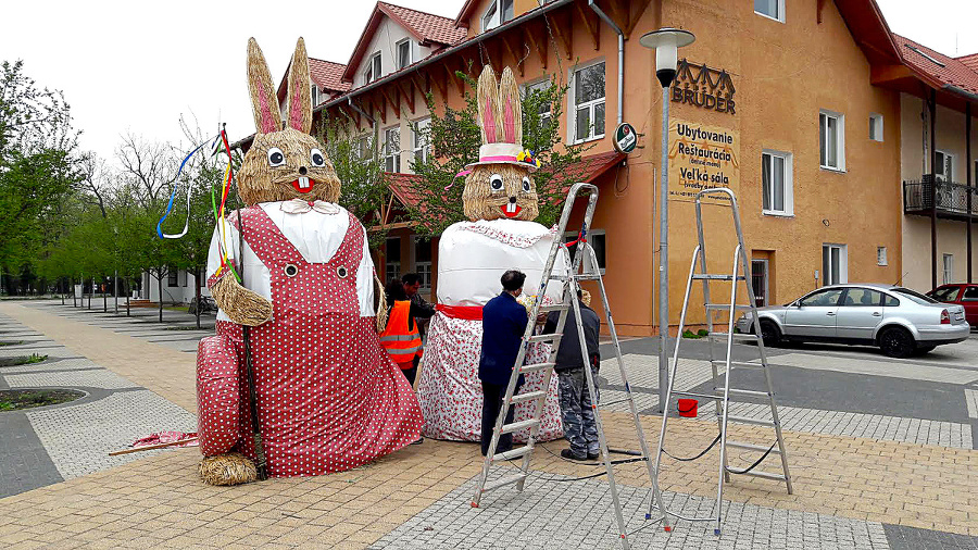
<path fill-rule="evenodd" d="M 702 200 L 704 198 L 726 198 L 730 201 L 730 211 L 734 217 L 734 227 L 737 233 L 737 247 L 734 250 L 734 266 L 730 274 L 711 274 L 706 270 L 706 240 L 704 236 L 703 229 L 703 209 L 702 209 Z M 655 472 L 660 472 L 660 464 L 662 461 L 663 454 L 663 445 L 665 442 L 665 434 L 666 434 L 666 425 L 668 421 L 668 404 L 670 399 L 675 396 L 684 396 L 684 397 L 694 397 L 705 402 L 714 401 L 716 405 L 716 421 L 717 427 L 719 430 L 719 473 L 716 488 L 716 502 L 714 502 L 714 510 L 716 511 L 715 516 L 709 517 L 684 517 L 679 514 L 669 512 L 665 509 L 662 511 L 666 513 L 666 515 L 673 515 L 679 517 L 680 520 L 687 521 L 701 521 L 709 522 L 715 521 L 716 527 L 714 528 L 714 534 L 720 534 L 720 525 L 723 521 L 723 496 L 724 496 L 724 483 L 730 482 L 730 474 L 744 474 L 751 475 L 755 477 L 762 477 L 765 479 L 773 479 L 778 482 L 783 482 L 788 487 L 788 493 L 791 495 L 793 492 L 791 487 L 791 474 L 788 472 L 788 454 L 785 449 L 785 440 L 781 437 L 781 424 L 778 420 L 778 408 L 775 403 L 775 393 L 774 388 L 770 384 L 770 371 L 768 370 L 767 364 L 767 352 L 764 349 L 764 339 L 762 338 L 761 324 L 757 318 L 757 308 L 756 301 L 754 297 L 754 289 L 751 286 L 750 278 L 750 260 L 748 258 L 748 250 L 744 247 L 743 242 L 743 230 L 740 225 L 740 212 L 737 208 L 737 198 L 734 196 L 734 191 L 726 188 L 715 188 L 715 189 L 704 189 L 697 193 L 695 200 L 697 207 L 697 237 L 699 239 L 698 246 L 692 254 L 692 263 L 689 267 L 689 278 L 686 283 L 686 297 L 682 300 L 682 313 L 679 317 L 679 332 L 678 337 L 676 338 L 676 348 L 673 352 L 673 364 L 672 364 L 672 375 L 669 376 L 669 385 L 668 390 L 666 392 L 666 407 L 663 408 L 665 413 L 662 416 L 662 430 L 659 434 L 659 450 L 655 455 Z M 690 300 L 690 291 L 692 290 L 693 280 L 702 280 L 703 282 L 703 308 L 706 313 L 706 330 L 707 330 L 707 345 L 710 347 L 710 366 L 713 371 L 713 395 L 706 393 L 697 393 L 692 391 L 679 391 L 674 389 L 674 384 L 676 382 L 676 374 L 678 372 L 679 366 L 679 348 L 682 342 L 682 332 L 686 328 L 686 315 L 689 311 L 689 300 Z M 730 301 L 728 303 L 713 303 L 710 299 L 710 283 L 711 282 L 729 282 L 730 283 Z M 743 282 L 747 287 L 747 297 L 749 303 L 739 304 L 737 303 L 738 297 L 738 284 Z M 753 333 L 752 334 L 737 334 L 734 332 L 734 324 L 737 321 L 737 312 L 738 311 L 747 311 L 750 312 L 753 320 Z M 728 315 L 727 320 L 727 332 L 718 333 L 714 329 L 713 314 L 716 312 L 726 313 Z M 757 351 L 760 353 L 761 363 L 754 362 L 745 362 L 745 361 L 734 361 L 731 358 L 731 353 L 734 351 L 734 342 L 735 340 L 743 341 L 743 342 L 755 342 L 757 346 Z M 726 355 L 724 359 L 716 359 L 714 354 L 714 343 L 720 342 L 725 343 Z M 719 379 L 719 371 L 718 366 L 723 367 L 724 380 L 723 385 L 720 385 Z M 764 371 L 764 379 L 767 385 L 766 391 L 756 391 L 749 389 L 737 389 L 730 387 L 730 374 L 731 368 L 761 368 Z M 764 399 L 770 404 L 770 416 L 772 420 L 761 420 L 753 417 L 744 417 L 744 416 L 731 416 L 729 415 L 729 403 L 730 396 L 739 396 L 747 397 L 753 399 Z M 775 443 L 768 448 L 762 445 L 755 445 L 750 442 L 740 442 L 740 441 L 728 441 L 727 440 L 727 422 L 736 422 L 741 424 L 752 424 L 760 426 L 773 427 L 775 432 L 776 441 Z M 715 445 L 716 441 L 714 441 Z M 757 451 L 763 453 L 761 460 L 755 462 L 752 466 L 747 468 L 731 468 L 727 463 L 727 447 L 743 449 L 749 451 Z M 707 448 L 709 450 L 709 448 Z M 755 472 L 753 467 L 756 466 L 761 461 L 767 458 L 768 454 L 776 453 L 781 458 L 781 470 L 780 474 L 767 473 L 767 472 Z"/>

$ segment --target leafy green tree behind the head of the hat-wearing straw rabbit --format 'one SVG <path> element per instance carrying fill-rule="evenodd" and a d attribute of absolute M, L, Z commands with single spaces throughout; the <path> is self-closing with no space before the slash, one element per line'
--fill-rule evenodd
<path fill-rule="evenodd" d="M 456 72 L 456 76 L 468 83 L 471 89 L 477 87 L 467 74 Z M 567 86 L 552 75 L 547 78 L 550 86 L 528 90 L 523 98 L 523 146 L 534 151 L 542 163 L 540 170 L 534 173 L 540 198 L 537 221 L 551 225 L 560 215 L 566 187 L 575 183 L 577 176 L 567 168 L 580 161 L 586 148 L 563 143 L 554 121 L 561 120 Z M 463 109 L 443 105 L 443 112 L 439 114 L 434 96 L 428 93 L 430 124 L 427 128 L 413 128 L 422 133 L 434 151 L 424 160 L 411 160 L 411 170 L 422 177 L 409 183 L 414 196 L 425 197 L 417 205 L 408 207 L 410 216 L 417 222 L 418 229 L 428 235 L 438 235 L 449 225 L 466 218 L 462 207 L 464 182 L 462 177 L 455 180 L 455 175 L 478 159 L 481 137 L 477 122 L 477 98 L 466 91 L 464 99 Z M 549 113 L 549 116 L 542 116 L 543 113 Z"/>

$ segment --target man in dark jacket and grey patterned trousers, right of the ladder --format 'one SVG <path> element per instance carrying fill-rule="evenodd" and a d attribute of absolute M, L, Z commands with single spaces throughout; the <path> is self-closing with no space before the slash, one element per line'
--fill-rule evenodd
<path fill-rule="evenodd" d="M 601 357 L 598 351 L 598 335 L 601 328 L 601 320 L 594 310 L 580 301 L 580 290 L 577 291 L 577 303 L 580 305 L 580 318 L 585 332 L 585 345 L 588 348 L 588 363 L 592 378 L 595 380 L 594 395 L 598 395 L 598 365 Z M 556 330 L 560 312 L 551 312 L 543 325 L 543 334 L 552 334 Z M 561 347 L 557 349 L 556 365 L 561 389 L 561 417 L 564 423 L 564 437 L 570 442 L 569 449 L 561 451 L 561 457 L 570 460 L 594 460 L 598 458 L 598 424 L 594 422 L 594 411 L 591 408 L 591 395 L 588 391 L 587 375 L 585 373 L 584 358 L 580 353 L 580 339 L 577 335 L 577 322 L 574 308 L 567 311 L 567 321 L 564 323 L 564 337 L 561 338 Z"/>

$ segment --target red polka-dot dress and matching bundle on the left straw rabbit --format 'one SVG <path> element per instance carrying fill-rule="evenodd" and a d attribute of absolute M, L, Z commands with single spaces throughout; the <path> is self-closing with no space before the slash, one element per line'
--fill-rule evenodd
<path fill-rule="evenodd" d="M 309 263 L 261 208 L 243 215 L 244 240 L 272 274 L 272 320 L 250 329 L 271 475 L 340 472 L 416 440 L 422 415 L 414 392 L 380 347 L 374 317 L 361 316 L 360 222 L 348 214 L 339 250 L 326 263 Z M 229 222 L 237 227 L 236 216 Z M 204 339 L 213 342 L 201 341 L 198 359 L 201 450 L 239 450 L 253 459 L 241 326 L 217 321 L 216 330 Z M 220 366 L 225 346 L 237 360 L 234 380 Z"/>

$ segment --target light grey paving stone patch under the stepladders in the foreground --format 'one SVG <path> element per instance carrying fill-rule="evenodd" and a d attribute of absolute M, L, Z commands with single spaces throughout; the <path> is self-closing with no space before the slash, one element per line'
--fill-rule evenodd
<path fill-rule="evenodd" d="M 512 472 L 510 472 L 512 473 Z M 476 479 L 449 492 L 372 545 L 372 549 L 587 548 L 619 549 L 607 484 L 568 482 L 565 476 L 531 477 L 522 493 L 501 488 L 469 505 Z M 812 512 L 725 503 L 724 528 L 714 522 L 674 522 L 672 534 L 645 521 L 647 488 L 619 486 L 623 516 L 632 548 L 886 549 L 879 523 Z M 710 516 L 713 500 L 666 492 L 670 511 Z"/>

